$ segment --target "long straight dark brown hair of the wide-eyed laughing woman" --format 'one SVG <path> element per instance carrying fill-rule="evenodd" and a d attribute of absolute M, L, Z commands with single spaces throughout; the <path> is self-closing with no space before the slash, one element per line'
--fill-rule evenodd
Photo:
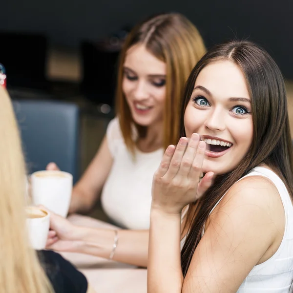
<path fill-rule="evenodd" d="M 293 146 L 287 113 L 287 98 L 282 74 L 272 57 L 258 45 L 248 41 L 220 44 L 197 63 L 192 70 L 181 112 L 181 135 L 185 136 L 184 113 L 196 78 L 209 63 L 227 60 L 242 70 L 251 97 L 253 140 L 245 157 L 235 169 L 218 175 L 206 194 L 190 206 L 187 223 L 191 223 L 181 252 L 184 276 L 192 255 L 201 239 L 204 223 L 211 209 L 228 189 L 252 168 L 264 163 L 271 167 L 286 185 L 293 197 Z M 195 205 L 197 204 L 197 205 Z"/>

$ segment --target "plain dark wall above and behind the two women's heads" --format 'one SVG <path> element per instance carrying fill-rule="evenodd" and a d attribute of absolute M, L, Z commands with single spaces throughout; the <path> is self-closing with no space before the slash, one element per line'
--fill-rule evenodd
<path fill-rule="evenodd" d="M 0 30 L 44 32 L 51 44 L 78 48 L 158 12 L 185 14 L 207 46 L 250 38 L 293 79 L 292 0 L 1 0 Z"/>

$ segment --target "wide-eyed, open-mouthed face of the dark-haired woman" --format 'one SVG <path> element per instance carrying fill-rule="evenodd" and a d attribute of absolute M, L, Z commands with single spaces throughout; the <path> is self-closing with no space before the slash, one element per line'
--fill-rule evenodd
<path fill-rule="evenodd" d="M 187 137 L 207 143 L 203 171 L 223 174 L 234 169 L 253 137 L 250 95 L 241 69 L 230 61 L 204 67 L 195 82 L 184 115 Z"/>

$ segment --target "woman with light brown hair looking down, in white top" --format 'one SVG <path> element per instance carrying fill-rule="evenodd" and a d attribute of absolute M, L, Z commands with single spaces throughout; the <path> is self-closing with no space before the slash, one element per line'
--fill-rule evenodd
<path fill-rule="evenodd" d="M 70 206 L 70 212 L 90 209 L 103 188 L 106 214 L 125 230 L 75 230 L 52 217 L 58 236 L 52 249 L 76 250 L 73 242 L 82 238 L 95 248 L 79 251 L 146 266 L 152 176 L 166 147 L 178 139 L 184 85 L 204 54 L 200 34 L 180 14 L 158 15 L 132 30 L 120 58 L 117 118 L 74 187 Z"/>

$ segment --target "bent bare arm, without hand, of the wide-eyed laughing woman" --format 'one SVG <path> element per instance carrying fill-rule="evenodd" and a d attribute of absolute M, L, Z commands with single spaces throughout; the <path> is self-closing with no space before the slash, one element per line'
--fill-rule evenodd
<path fill-rule="evenodd" d="M 236 293 L 253 266 L 272 256 L 285 225 L 277 191 L 258 176 L 237 185 L 210 216 L 184 280 L 178 262 L 179 219 L 152 211 L 148 292 Z M 175 241 L 166 246 L 168 238 Z"/>

